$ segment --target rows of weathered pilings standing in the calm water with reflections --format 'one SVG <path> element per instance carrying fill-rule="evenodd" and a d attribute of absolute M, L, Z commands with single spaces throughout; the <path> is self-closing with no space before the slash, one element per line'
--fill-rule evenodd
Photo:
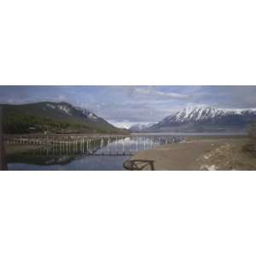
<path fill-rule="evenodd" d="M 45 154 L 131 155 L 157 145 L 176 143 L 178 138 L 132 137 L 132 141 L 130 139 L 131 137 L 124 136 L 9 136 L 5 137 L 5 143 L 41 145 L 38 148 Z"/>

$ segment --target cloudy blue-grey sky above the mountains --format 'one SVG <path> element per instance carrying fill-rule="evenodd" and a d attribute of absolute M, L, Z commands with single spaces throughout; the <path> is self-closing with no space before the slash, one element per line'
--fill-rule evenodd
<path fill-rule="evenodd" d="M 0 103 L 43 101 L 69 102 L 128 128 L 187 106 L 256 108 L 256 86 L 0 86 Z"/>

